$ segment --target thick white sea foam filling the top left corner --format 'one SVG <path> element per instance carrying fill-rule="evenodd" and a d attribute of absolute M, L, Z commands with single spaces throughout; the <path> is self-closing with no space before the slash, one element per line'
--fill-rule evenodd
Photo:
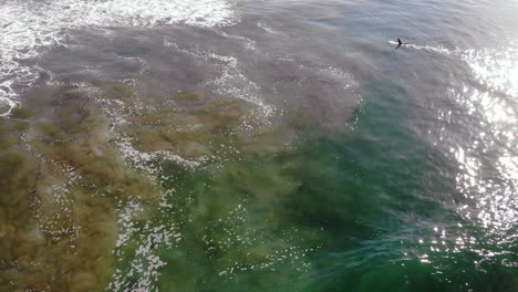
<path fill-rule="evenodd" d="M 38 65 L 24 60 L 62 44 L 71 38 L 69 30 L 216 27 L 236 20 L 226 0 L 7 0 L 0 4 L 0 103 L 11 108 L 20 90 L 31 86 L 40 73 Z"/>

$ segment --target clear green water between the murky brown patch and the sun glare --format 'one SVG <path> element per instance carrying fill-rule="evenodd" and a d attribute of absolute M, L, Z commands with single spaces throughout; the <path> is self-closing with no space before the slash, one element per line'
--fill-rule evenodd
<path fill-rule="evenodd" d="M 407 128 L 402 95 L 373 82 L 332 137 L 305 131 L 216 170 L 167 166 L 178 192 L 165 218 L 184 240 L 158 251 L 160 290 L 515 291 L 516 244 L 456 212 L 454 166 Z"/>

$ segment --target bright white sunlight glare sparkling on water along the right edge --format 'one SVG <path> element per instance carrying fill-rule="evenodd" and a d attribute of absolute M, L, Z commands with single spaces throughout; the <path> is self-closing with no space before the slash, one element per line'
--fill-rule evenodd
<path fill-rule="evenodd" d="M 486 242 L 480 243 L 509 248 L 516 241 L 518 218 L 517 52 L 515 43 L 466 51 L 462 58 L 473 70 L 477 86 L 466 83 L 462 91 L 453 92 L 456 102 L 478 118 L 478 125 L 469 129 L 472 144 L 450 149 L 459 164 L 457 189 L 473 202 L 462 206 L 459 213 L 487 232 Z M 493 157 L 490 164 L 487 156 Z M 485 249 L 477 252 L 485 258 L 501 255 Z"/>

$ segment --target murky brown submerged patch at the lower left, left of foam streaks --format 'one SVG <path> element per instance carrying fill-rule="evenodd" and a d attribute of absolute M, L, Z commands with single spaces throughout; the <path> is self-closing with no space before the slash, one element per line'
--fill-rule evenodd
<path fill-rule="evenodd" d="M 113 272 L 117 204 L 153 204 L 159 192 L 120 158 L 86 96 L 65 90 L 32 106 L 0 121 L 0 285 L 102 290 Z"/>

